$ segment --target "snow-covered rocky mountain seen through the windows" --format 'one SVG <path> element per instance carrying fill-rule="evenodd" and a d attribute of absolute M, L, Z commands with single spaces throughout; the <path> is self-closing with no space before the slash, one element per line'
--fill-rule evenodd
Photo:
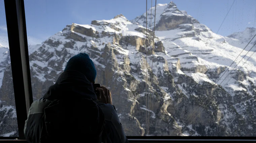
<path fill-rule="evenodd" d="M 154 22 L 150 12 L 149 28 Z M 249 52 L 242 59 L 252 44 L 235 60 L 248 32 L 223 37 L 173 2 L 157 5 L 154 42 L 153 31 L 145 27 L 145 13 L 131 21 L 120 14 L 86 25 L 72 23 L 30 48 L 34 98 L 55 83 L 70 57 L 87 53 L 97 69 L 96 82 L 112 93 L 127 136 L 256 135 L 256 58 L 245 63 Z M 15 105 L 13 90 L 1 92 L 11 86 L 10 69 L 4 70 L 3 80 L 10 82 L 3 82 L 0 98 Z"/>

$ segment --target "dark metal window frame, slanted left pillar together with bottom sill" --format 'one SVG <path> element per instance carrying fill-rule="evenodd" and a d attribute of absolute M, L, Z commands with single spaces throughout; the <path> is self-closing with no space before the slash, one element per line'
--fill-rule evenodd
<path fill-rule="evenodd" d="M 26 142 L 23 129 L 33 96 L 24 0 L 4 0 L 4 5 L 19 137 L 0 137 L 0 142 L 12 142 L 16 138 L 19 139 L 16 141 Z M 256 142 L 256 137 L 128 136 L 127 138 L 130 142 Z"/>

